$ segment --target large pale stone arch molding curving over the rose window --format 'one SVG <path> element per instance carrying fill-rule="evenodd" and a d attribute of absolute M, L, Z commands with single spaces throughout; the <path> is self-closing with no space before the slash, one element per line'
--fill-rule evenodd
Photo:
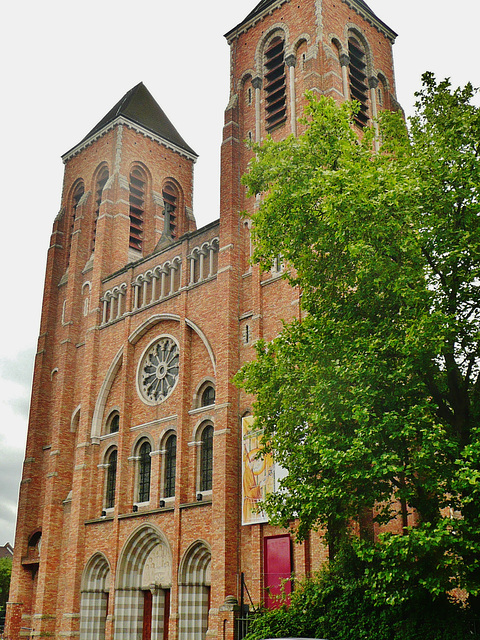
<path fill-rule="evenodd" d="M 161 322 L 165 322 L 167 320 L 173 320 L 179 323 L 181 322 L 180 316 L 173 313 L 159 313 L 159 314 L 153 315 L 147 320 L 145 320 L 145 322 L 143 322 L 139 327 L 135 329 L 135 331 L 133 331 L 130 334 L 130 336 L 128 337 L 128 342 L 132 345 L 135 345 L 140 340 L 140 338 L 143 335 L 145 335 L 145 333 L 147 333 L 147 331 L 152 329 L 152 327 L 154 327 L 155 325 Z M 202 341 L 210 357 L 213 371 L 216 372 L 215 354 L 213 352 L 210 341 L 208 340 L 206 335 L 203 333 L 203 331 L 200 329 L 200 327 L 198 327 L 198 325 L 196 325 L 194 322 L 192 322 L 188 318 L 185 318 L 185 324 L 188 327 L 190 327 L 190 329 L 192 329 L 192 331 L 194 331 Z M 115 357 L 113 358 L 112 363 L 108 368 L 108 371 L 105 375 L 105 378 L 102 382 L 100 391 L 97 396 L 97 401 L 95 403 L 95 409 L 94 409 L 93 418 L 92 418 L 92 428 L 90 432 L 92 441 L 96 443 L 100 442 L 100 436 L 102 435 L 105 406 L 107 403 L 108 394 L 110 393 L 110 389 L 112 388 L 115 378 L 122 366 L 123 351 L 124 351 L 124 347 L 121 347 L 117 352 L 117 354 L 115 355 Z"/>

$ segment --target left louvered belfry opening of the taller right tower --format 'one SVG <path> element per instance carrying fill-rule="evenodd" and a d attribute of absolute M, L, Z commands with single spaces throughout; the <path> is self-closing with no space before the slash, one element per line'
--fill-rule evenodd
<path fill-rule="evenodd" d="M 287 119 L 285 42 L 277 37 L 265 51 L 265 92 L 267 131 Z"/>

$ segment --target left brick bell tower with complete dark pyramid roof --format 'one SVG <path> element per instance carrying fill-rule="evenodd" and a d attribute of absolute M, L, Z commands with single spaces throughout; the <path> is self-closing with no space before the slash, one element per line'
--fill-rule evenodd
<path fill-rule="evenodd" d="M 138 295 L 132 300 L 138 288 L 126 284 L 115 289 L 116 297 L 106 296 L 105 280 L 128 274 L 132 265 L 196 230 L 196 158 L 143 83 L 62 157 L 62 203 L 47 258 L 11 585 L 11 600 L 23 603 L 23 626 L 35 624 L 40 634 L 54 634 L 60 624 L 54 615 L 59 580 L 79 586 L 82 571 L 90 483 L 82 469 L 91 465 L 95 381 L 102 357 L 110 358 L 99 327 L 124 315 L 127 305 L 140 304 Z M 65 553 L 70 561 L 62 565 Z M 79 594 L 66 593 L 65 605 L 78 609 Z"/>

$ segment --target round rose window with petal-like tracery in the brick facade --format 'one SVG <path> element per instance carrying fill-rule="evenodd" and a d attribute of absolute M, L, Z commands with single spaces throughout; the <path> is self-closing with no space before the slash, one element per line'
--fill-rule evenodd
<path fill-rule="evenodd" d="M 158 404 L 172 393 L 178 380 L 179 358 L 178 344 L 167 336 L 147 349 L 138 370 L 138 386 L 147 402 Z"/>

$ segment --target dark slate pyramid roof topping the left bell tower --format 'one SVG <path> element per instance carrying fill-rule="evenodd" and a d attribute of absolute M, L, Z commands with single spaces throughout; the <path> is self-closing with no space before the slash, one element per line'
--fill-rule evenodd
<path fill-rule="evenodd" d="M 101 131 L 118 117 L 130 120 L 134 124 L 138 124 L 144 129 L 148 129 L 148 131 L 151 131 L 167 142 L 171 142 L 184 151 L 197 156 L 195 151 L 185 142 L 182 136 L 175 129 L 143 82 L 140 82 L 133 87 L 133 89 L 130 89 L 130 91 L 128 91 L 123 98 L 117 102 L 113 109 L 111 109 L 107 115 L 87 133 L 85 138 L 83 138 L 78 145 L 75 145 L 75 147 L 95 136 L 96 133 Z M 70 153 L 70 151 L 65 155 L 68 155 L 68 153 Z"/>

